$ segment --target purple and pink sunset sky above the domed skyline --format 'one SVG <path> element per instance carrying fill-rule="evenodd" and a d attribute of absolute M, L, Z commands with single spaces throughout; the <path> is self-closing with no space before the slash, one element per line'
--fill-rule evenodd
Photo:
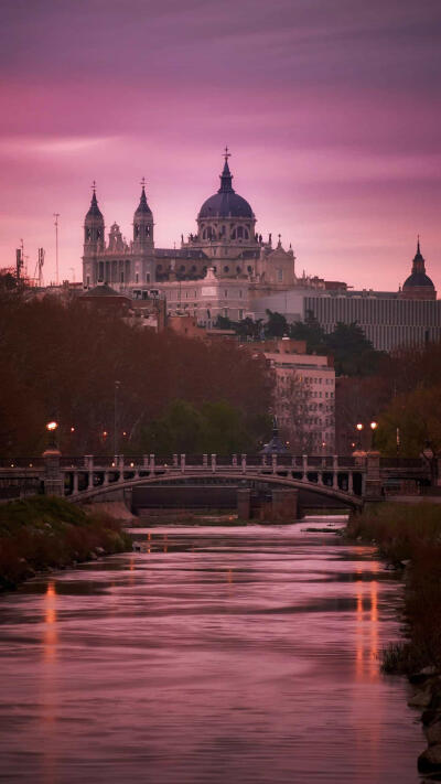
<path fill-rule="evenodd" d="M 131 237 L 195 229 L 222 151 L 303 269 L 396 290 L 417 234 L 441 290 L 440 0 L 2 0 L 0 266 L 80 278 L 90 183 Z"/>

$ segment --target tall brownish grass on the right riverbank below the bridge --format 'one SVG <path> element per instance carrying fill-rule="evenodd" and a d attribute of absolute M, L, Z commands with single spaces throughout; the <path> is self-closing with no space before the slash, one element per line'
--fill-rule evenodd
<path fill-rule="evenodd" d="M 441 507 L 384 503 L 349 518 L 351 539 L 374 543 L 381 558 L 405 571 L 402 643 L 383 652 L 383 669 L 441 670 Z"/>

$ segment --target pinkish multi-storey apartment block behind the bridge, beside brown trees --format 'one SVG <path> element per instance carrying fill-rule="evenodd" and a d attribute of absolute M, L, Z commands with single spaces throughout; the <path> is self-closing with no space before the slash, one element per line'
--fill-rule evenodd
<path fill-rule="evenodd" d="M 275 412 L 292 451 L 332 454 L 335 444 L 335 370 L 332 358 L 306 354 L 304 341 L 254 343 L 276 373 Z"/>

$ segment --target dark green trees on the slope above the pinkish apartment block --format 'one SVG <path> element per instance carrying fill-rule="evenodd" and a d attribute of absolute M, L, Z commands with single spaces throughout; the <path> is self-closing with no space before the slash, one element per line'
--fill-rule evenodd
<path fill-rule="evenodd" d="M 219 329 L 233 329 L 244 340 L 292 337 L 305 341 L 309 354 L 333 356 L 337 376 L 372 376 L 381 367 L 384 352 L 376 351 L 358 324 L 338 322 L 326 333 L 313 313 L 303 321 L 289 323 L 282 313 L 267 310 L 267 321 L 244 319 L 234 322 L 224 316 L 217 319 Z"/>

